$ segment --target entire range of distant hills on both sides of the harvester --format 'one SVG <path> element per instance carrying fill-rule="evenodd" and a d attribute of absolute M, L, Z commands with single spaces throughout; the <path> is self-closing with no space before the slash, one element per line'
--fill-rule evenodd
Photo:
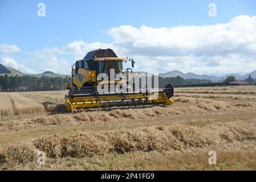
<path fill-rule="evenodd" d="M 142 72 L 137 72 L 137 73 L 142 73 Z M 57 73 L 53 73 L 50 71 L 46 71 L 40 74 L 27 74 L 27 73 L 22 73 L 21 71 L 18 71 L 17 69 L 11 68 L 11 67 L 7 67 L 5 65 L 0 64 L 0 75 L 18 75 L 18 76 L 25 76 L 25 75 L 30 75 L 30 76 L 35 76 L 35 77 L 62 77 L 65 78 L 66 76 L 70 77 L 70 75 L 60 75 Z M 176 76 L 180 76 L 184 79 L 190 79 L 190 78 L 196 78 L 196 79 L 206 79 L 206 80 L 213 80 L 213 81 L 220 81 L 220 80 L 225 80 L 225 78 L 227 76 L 234 76 L 235 78 L 237 78 L 237 80 L 245 80 L 245 78 L 247 78 L 249 75 L 251 75 L 251 77 L 256 78 L 256 70 L 251 72 L 251 73 L 247 73 L 246 75 L 239 75 L 237 73 L 233 73 L 233 74 L 228 74 L 228 75 L 224 75 L 221 77 L 217 77 L 214 75 L 197 75 L 195 73 L 182 73 L 181 71 L 170 71 L 167 73 L 159 73 L 159 76 L 161 77 L 176 77 Z"/>

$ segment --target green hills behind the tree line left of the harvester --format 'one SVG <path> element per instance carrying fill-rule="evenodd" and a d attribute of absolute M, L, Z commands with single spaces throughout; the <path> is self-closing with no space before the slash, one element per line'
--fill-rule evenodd
<path fill-rule="evenodd" d="M 4 76 L 4 75 L 9 75 L 9 76 L 25 76 L 25 75 L 29 75 L 29 76 L 35 76 L 35 77 L 50 77 L 50 78 L 55 78 L 55 77 L 61 77 L 61 78 L 66 78 L 67 77 L 71 77 L 70 75 L 60 75 L 57 73 L 53 73 L 50 71 L 46 71 L 43 72 L 41 74 L 27 74 L 27 73 L 22 73 L 20 71 L 18 71 L 17 69 L 11 68 L 11 67 L 6 67 L 5 65 L 0 64 L 0 75 Z"/>

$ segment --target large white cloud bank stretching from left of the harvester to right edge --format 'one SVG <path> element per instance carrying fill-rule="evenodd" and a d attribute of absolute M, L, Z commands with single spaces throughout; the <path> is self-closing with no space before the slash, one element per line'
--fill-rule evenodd
<path fill-rule="evenodd" d="M 110 43 L 76 40 L 27 54 L 39 59 L 43 69 L 59 73 L 70 73 L 74 60 L 98 48 L 111 48 L 119 57 L 132 57 L 137 71 L 151 73 L 177 69 L 222 76 L 256 69 L 256 16 L 240 15 L 228 23 L 204 26 L 123 25 L 109 28 L 107 34 L 113 39 Z"/>

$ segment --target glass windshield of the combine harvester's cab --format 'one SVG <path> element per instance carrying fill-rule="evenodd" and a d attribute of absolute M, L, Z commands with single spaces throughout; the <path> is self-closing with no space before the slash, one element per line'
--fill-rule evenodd
<path fill-rule="evenodd" d="M 97 64 L 97 74 L 105 73 L 108 75 L 108 78 L 110 78 L 110 69 L 114 69 L 115 78 L 119 78 L 116 77 L 116 75 L 120 74 L 122 71 L 122 61 L 100 61 Z"/>

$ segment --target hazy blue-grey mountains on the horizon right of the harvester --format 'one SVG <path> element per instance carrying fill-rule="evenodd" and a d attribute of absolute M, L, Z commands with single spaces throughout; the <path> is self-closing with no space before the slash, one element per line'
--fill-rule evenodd
<path fill-rule="evenodd" d="M 214 75 L 197 75 L 195 73 L 182 73 L 181 71 L 170 71 L 167 73 L 159 73 L 159 76 L 161 77 L 176 77 L 176 76 L 180 76 L 184 79 L 190 79 L 190 78 L 196 78 L 196 79 L 206 79 L 206 80 L 213 80 L 213 81 L 220 81 L 220 80 L 225 80 L 226 77 L 228 76 L 234 76 L 237 80 L 245 80 L 245 78 L 247 78 L 249 75 L 251 75 L 251 77 L 256 78 L 256 70 L 251 72 L 251 73 L 247 73 L 246 75 L 239 75 L 237 73 L 232 73 L 232 74 L 228 74 L 228 75 L 224 75 L 221 77 L 217 77 Z"/>

